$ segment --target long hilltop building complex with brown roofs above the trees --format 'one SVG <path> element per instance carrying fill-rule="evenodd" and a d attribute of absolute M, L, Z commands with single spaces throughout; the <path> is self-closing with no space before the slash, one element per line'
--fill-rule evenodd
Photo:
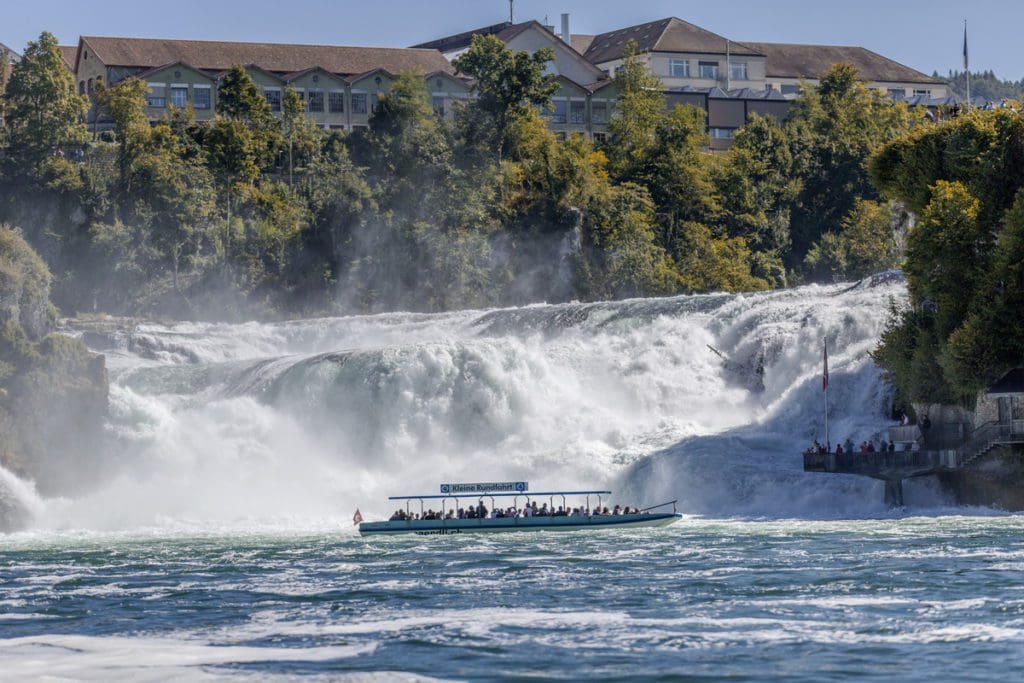
<path fill-rule="evenodd" d="M 148 38 L 82 36 L 62 47 L 79 92 L 134 76 L 150 86 L 148 114 L 193 106 L 200 120 L 216 111 L 217 86 L 234 65 L 245 67 L 271 110 L 280 112 L 285 88 L 305 101 L 307 116 L 325 128 L 356 130 L 369 125 L 381 95 L 398 74 L 418 70 L 427 81 L 438 115 L 473 96 L 471 80 L 452 60 L 474 35 L 496 36 L 513 50 L 551 48 L 551 76 L 559 88 L 550 111 L 552 130 L 595 140 L 606 135 L 618 94 L 616 70 L 630 41 L 665 89 L 671 104 L 693 104 L 708 116 L 712 148 L 726 148 L 751 115 L 783 118 L 803 84 L 816 84 L 839 62 L 857 69 L 870 88 L 911 104 L 953 102 L 949 86 L 862 47 L 737 42 L 682 19 L 669 17 L 596 36 L 560 31 L 538 22 L 506 22 L 430 40 L 407 48 L 285 45 Z M 93 108 L 90 122 L 102 124 Z"/>

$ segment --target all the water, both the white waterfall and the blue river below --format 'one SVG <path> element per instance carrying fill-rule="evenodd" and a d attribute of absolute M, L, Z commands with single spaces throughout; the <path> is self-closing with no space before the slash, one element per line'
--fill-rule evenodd
<path fill-rule="evenodd" d="M 992 680 L 1024 518 L 805 474 L 880 438 L 896 276 L 753 295 L 83 330 L 108 443 L 0 535 L 0 679 Z M 723 360 L 723 357 L 726 360 Z M 56 462 L 59 462 L 57 459 Z M 67 474 L 67 472 L 65 472 Z M 68 479 L 69 477 L 65 477 Z M 442 481 L 678 500 L 662 529 L 360 539 Z"/>

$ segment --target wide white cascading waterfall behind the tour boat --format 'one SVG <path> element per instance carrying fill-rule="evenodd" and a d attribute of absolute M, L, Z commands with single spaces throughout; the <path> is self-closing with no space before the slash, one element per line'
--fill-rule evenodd
<path fill-rule="evenodd" d="M 716 516 L 878 514 L 879 484 L 802 472 L 821 438 L 881 435 L 868 356 L 898 276 L 762 294 L 142 325 L 106 349 L 102 483 L 36 528 L 350 525 L 441 481 L 611 486 Z M 108 340 L 111 341 L 111 340 Z M 709 345 L 730 360 L 723 364 Z"/>

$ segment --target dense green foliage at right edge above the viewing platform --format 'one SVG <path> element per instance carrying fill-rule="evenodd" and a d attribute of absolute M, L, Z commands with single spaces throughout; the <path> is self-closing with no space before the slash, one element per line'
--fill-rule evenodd
<path fill-rule="evenodd" d="M 968 401 L 1024 365 L 1022 145 L 1020 115 L 977 112 L 911 131 L 871 160 L 881 189 L 921 216 L 904 266 L 912 308 L 894 321 L 879 350 L 911 399 Z M 897 343 L 918 349 L 927 367 L 911 368 Z"/>

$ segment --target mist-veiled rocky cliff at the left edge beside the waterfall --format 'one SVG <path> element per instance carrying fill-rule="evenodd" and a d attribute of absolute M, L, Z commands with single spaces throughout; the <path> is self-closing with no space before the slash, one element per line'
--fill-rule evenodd
<path fill-rule="evenodd" d="M 102 356 L 54 334 L 49 293 L 46 265 L 0 226 L 0 466 L 60 494 L 88 482 L 109 386 Z M 19 518 L 13 500 L 0 492 L 0 529 Z"/>

